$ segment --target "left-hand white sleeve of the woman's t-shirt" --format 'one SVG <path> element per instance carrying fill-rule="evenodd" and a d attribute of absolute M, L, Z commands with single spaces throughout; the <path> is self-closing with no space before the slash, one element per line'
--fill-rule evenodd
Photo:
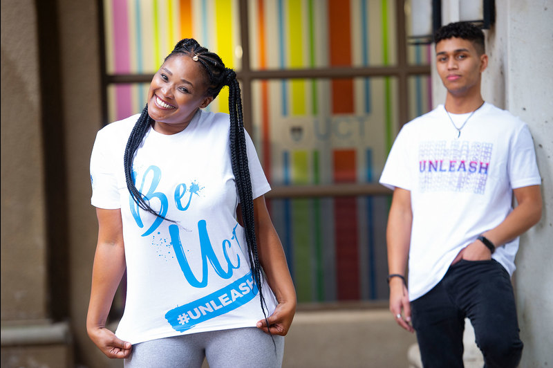
<path fill-rule="evenodd" d="M 110 145 L 106 134 L 98 131 L 91 154 L 91 203 L 97 208 L 115 210 L 121 208 L 120 194 L 113 163 Z"/>

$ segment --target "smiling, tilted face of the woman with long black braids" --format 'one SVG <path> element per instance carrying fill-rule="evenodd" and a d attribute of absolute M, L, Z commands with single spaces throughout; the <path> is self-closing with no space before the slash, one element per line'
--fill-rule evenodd
<path fill-rule="evenodd" d="M 153 75 L 148 92 L 148 114 L 153 129 L 175 134 L 185 129 L 198 108 L 213 98 L 206 95 L 207 76 L 199 62 L 188 55 L 169 57 Z"/>

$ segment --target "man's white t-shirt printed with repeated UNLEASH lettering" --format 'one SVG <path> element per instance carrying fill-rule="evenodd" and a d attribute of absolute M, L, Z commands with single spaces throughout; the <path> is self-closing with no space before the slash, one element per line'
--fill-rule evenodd
<path fill-rule="evenodd" d="M 460 127 L 469 114 L 451 118 Z M 508 111 L 485 103 L 460 137 L 443 105 L 404 125 L 380 183 L 411 191 L 409 299 L 433 288 L 458 252 L 498 226 L 512 211 L 512 190 L 540 185 L 528 127 Z M 493 258 L 512 275 L 518 238 Z"/>

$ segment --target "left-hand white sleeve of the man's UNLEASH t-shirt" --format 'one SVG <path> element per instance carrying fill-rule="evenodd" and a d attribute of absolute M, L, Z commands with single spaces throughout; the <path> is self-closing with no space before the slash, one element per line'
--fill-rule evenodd
<path fill-rule="evenodd" d="M 391 190 L 394 190 L 395 187 L 411 190 L 413 187 L 409 168 L 410 144 L 406 130 L 406 126 L 404 126 L 397 134 L 379 179 L 380 184 Z"/>

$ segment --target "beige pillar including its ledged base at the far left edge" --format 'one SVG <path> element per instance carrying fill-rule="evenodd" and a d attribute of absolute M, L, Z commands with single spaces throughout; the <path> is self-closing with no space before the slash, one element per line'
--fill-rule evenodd
<path fill-rule="evenodd" d="M 71 367 L 50 321 L 41 77 L 35 1 L 1 1 L 1 365 Z"/>

